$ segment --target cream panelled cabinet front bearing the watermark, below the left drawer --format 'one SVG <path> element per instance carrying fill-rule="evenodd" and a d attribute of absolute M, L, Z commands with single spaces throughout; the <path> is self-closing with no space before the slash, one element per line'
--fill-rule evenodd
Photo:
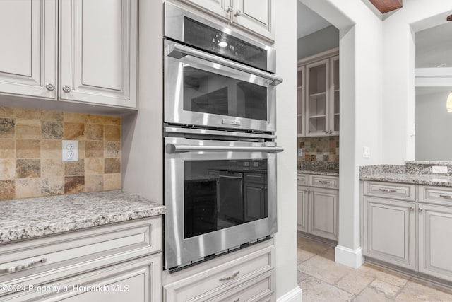
<path fill-rule="evenodd" d="M 2 297 L 6 301 L 160 301 L 161 253 L 96 269 Z"/>

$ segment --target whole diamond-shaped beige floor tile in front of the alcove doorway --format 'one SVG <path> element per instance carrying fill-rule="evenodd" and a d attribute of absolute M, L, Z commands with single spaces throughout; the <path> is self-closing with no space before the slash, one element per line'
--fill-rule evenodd
<path fill-rule="evenodd" d="M 353 271 L 351 267 L 340 265 L 319 255 L 302 262 L 298 270 L 329 284 L 335 284 L 340 278 Z"/>

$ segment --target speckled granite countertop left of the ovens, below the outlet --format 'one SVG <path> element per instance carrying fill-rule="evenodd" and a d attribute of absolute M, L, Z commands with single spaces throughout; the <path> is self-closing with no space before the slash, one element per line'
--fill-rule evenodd
<path fill-rule="evenodd" d="M 0 202 L 0 244 L 165 214 L 165 206 L 121 190 Z"/>

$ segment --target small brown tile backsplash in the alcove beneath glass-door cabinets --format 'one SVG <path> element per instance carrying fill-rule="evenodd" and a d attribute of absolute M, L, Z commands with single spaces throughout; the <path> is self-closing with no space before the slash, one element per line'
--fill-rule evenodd
<path fill-rule="evenodd" d="M 339 137 L 299 137 L 298 149 L 303 151 L 298 161 L 339 163 Z"/>

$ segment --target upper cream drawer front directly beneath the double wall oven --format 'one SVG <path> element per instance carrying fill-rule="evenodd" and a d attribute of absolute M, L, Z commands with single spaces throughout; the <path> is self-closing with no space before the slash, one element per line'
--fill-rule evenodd
<path fill-rule="evenodd" d="M 270 245 L 216 267 L 196 270 L 189 277 L 163 286 L 163 301 L 206 301 L 206 299 L 213 299 L 220 293 L 226 293 L 226 291 L 229 293 L 232 289 L 237 289 L 237 293 L 239 293 L 241 290 L 237 286 L 242 286 L 251 279 L 270 272 L 274 263 L 274 246 Z M 182 271 L 181 273 L 184 274 Z M 174 274 L 177 274 L 177 272 Z M 268 284 L 268 280 L 265 282 L 262 284 Z M 256 285 L 258 289 L 262 288 L 262 284 Z M 230 295 L 227 294 L 227 296 Z M 217 300 L 213 299 L 212 301 Z M 246 299 L 240 298 L 240 301 L 246 301 Z"/>

